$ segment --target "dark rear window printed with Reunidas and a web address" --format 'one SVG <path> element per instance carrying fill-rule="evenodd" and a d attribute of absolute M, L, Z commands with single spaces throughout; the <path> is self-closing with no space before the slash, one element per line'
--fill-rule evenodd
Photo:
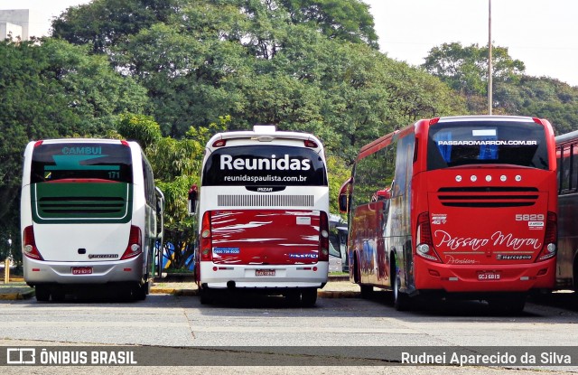
<path fill-rule="evenodd" d="M 215 150 L 202 173 L 204 186 L 327 186 L 320 155 L 304 147 L 239 145 Z"/>

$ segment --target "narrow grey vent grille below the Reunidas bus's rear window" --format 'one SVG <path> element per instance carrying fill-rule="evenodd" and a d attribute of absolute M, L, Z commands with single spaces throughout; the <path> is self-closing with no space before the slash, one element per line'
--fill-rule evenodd
<path fill-rule="evenodd" d="M 312 207 L 312 195 L 218 195 L 217 204 L 223 206 L 247 207 Z"/>

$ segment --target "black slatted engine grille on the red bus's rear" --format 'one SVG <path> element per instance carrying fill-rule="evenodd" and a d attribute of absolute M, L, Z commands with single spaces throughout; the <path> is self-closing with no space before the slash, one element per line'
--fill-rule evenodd
<path fill-rule="evenodd" d="M 538 199 L 533 187 L 441 188 L 438 199 L 447 207 L 526 207 Z"/>

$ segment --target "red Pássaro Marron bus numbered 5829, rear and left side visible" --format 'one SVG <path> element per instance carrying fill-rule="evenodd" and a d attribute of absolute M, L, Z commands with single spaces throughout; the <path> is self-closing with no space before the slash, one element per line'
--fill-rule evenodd
<path fill-rule="evenodd" d="M 361 148 L 340 192 L 350 279 L 521 311 L 555 286 L 555 136 L 532 117 L 417 121 Z M 417 301 L 415 301 L 417 300 Z"/>

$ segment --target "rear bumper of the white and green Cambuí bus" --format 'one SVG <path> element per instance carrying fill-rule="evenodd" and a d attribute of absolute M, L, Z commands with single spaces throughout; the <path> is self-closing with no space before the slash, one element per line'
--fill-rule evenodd
<path fill-rule="evenodd" d="M 54 262 L 24 258 L 24 281 L 31 286 L 139 282 L 143 278 L 143 257 L 140 254 L 135 258 L 109 262 Z"/>

